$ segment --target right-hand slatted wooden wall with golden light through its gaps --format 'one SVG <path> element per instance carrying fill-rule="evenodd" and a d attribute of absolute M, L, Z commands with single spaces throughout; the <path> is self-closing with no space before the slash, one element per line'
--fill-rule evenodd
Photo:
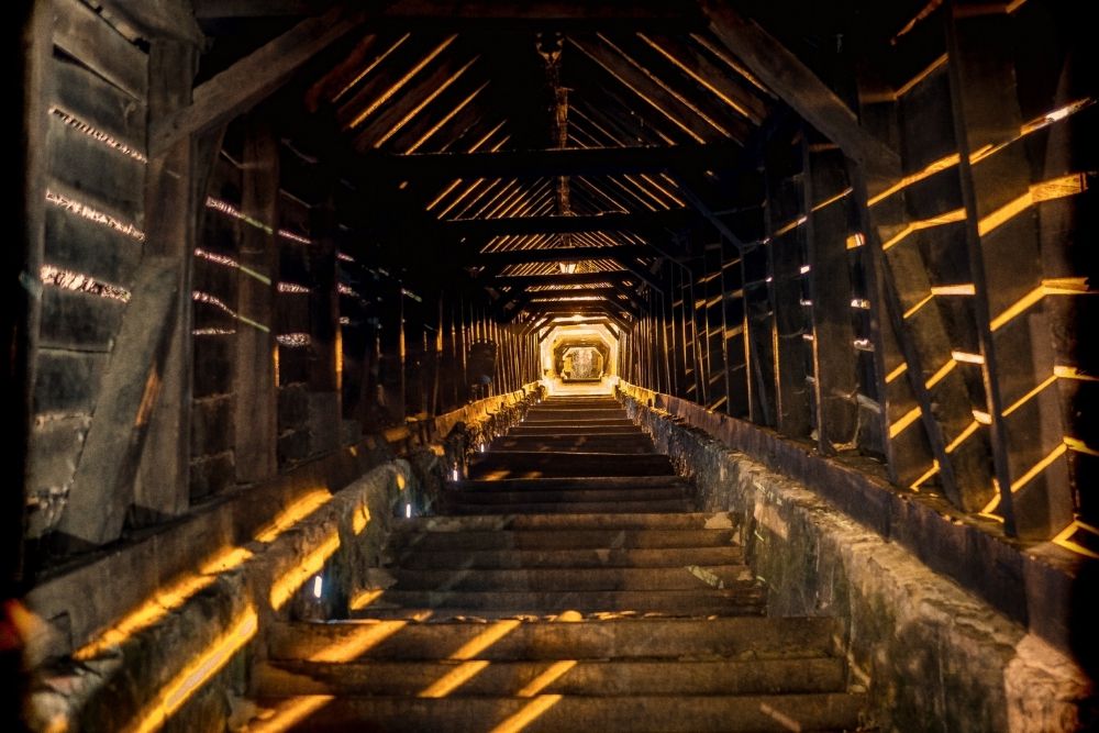
<path fill-rule="evenodd" d="M 858 113 L 900 153 L 891 173 L 866 178 L 776 116 L 730 224 L 748 244 L 695 233 L 709 244 L 666 274 L 666 313 L 628 338 L 646 364 L 664 334 L 668 374 L 632 373 L 884 459 L 989 531 L 1095 553 L 1099 388 L 1078 334 L 1097 302 L 1099 112 L 1078 22 L 1043 0 L 944 3 L 884 45 Z M 735 322 L 741 347 L 722 348 Z"/>

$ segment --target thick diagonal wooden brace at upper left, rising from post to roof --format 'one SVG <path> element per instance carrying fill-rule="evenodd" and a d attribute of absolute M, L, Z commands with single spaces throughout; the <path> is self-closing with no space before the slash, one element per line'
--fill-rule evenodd
<path fill-rule="evenodd" d="M 155 158 L 185 137 L 213 127 L 255 107 L 333 43 L 362 25 L 367 12 L 340 4 L 301 21 L 227 69 L 195 88 L 192 102 L 149 131 Z"/>

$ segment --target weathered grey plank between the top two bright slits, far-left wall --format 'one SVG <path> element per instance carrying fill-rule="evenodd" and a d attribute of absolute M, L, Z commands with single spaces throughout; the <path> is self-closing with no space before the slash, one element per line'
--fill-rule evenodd
<path fill-rule="evenodd" d="M 144 209 L 145 164 L 86 135 L 57 115 L 49 116 L 46 135 L 49 173 L 80 198 L 129 212 L 133 221 Z"/>

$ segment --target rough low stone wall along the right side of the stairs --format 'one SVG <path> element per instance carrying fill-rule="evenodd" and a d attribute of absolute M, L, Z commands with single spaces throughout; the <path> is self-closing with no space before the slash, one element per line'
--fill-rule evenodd
<path fill-rule="evenodd" d="M 1074 731 L 1094 722 L 1091 686 L 1028 633 L 819 493 L 731 451 L 623 386 L 619 398 L 673 462 L 700 508 L 730 511 L 775 615 L 834 615 L 850 684 L 889 731 Z"/>

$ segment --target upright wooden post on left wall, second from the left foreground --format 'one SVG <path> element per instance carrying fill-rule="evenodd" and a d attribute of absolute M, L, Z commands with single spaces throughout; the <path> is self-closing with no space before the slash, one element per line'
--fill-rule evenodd
<path fill-rule="evenodd" d="M 266 229 L 243 226 L 238 253 L 235 404 L 236 480 L 278 473 L 278 380 L 275 303 L 279 279 L 279 141 L 266 115 L 247 119 L 241 209 Z M 243 268 L 249 271 L 244 271 Z M 252 275 L 255 273 L 256 275 Z M 262 279 L 260 279 L 262 278 Z"/>

